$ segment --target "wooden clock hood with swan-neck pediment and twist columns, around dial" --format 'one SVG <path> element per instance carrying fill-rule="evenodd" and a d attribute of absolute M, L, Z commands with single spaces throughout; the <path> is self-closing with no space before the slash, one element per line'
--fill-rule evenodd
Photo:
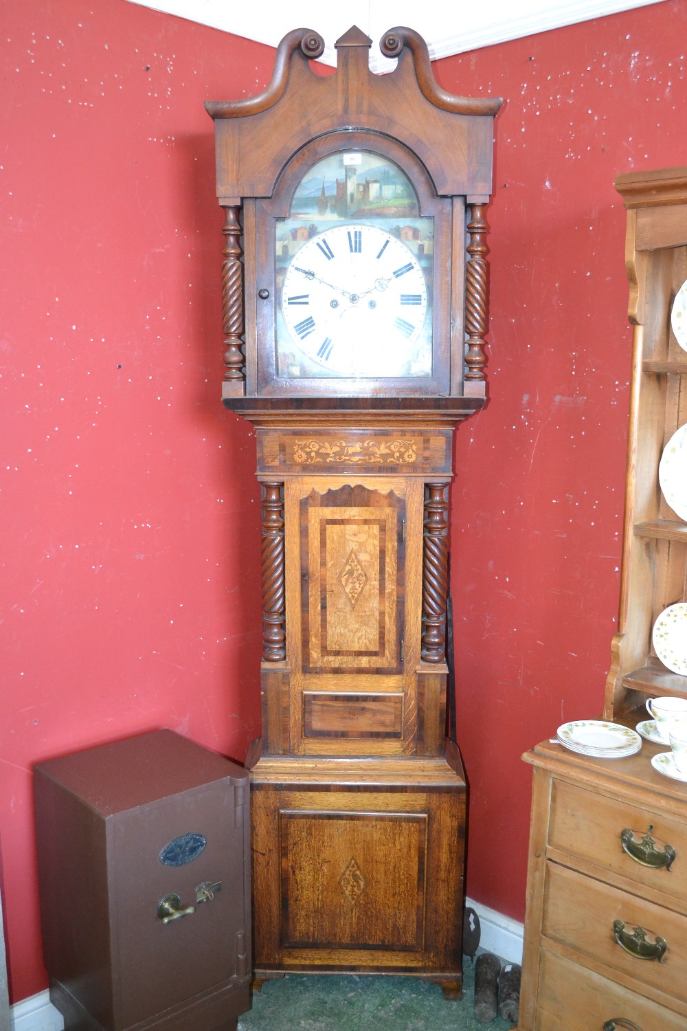
<path fill-rule="evenodd" d="M 323 42 L 297 29 L 280 43 L 263 94 L 206 104 L 215 124 L 217 197 L 226 212 L 225 402 L 248 411 L 250 398 L 329 398 L 340 407 L 346 397 L 450 397 L 451 410 L 468 414 L 485 397 L 484 206 L 501 102 L 441 90 L 426 45 L 409 29 L 392 29 L 381 42 L 386 56 L 398 58 L 388 75 L 370 71 L 371 40 L 358 29 L 336 45 L 336 74 L 318 75 L 309 61 Z M 356 147 L 394 162 L 415 189 L 420 214 L 435 218 L 433 374 L 426 380 L 280 379 L 274 219 L 287 213 L 301 176 L 318 158 Z"/>

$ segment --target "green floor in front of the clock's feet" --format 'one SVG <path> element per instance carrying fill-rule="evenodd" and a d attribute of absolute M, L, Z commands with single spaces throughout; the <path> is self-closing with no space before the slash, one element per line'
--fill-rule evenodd
<path fill-rule="evenodd" d="M 480 1023 L 473 1009 L 474 961 L 463 960 L 460 1002 L 417 977 L 288 974 L 253 995 L 239 1031 L 507 1031 L 510 1021 Z"/>

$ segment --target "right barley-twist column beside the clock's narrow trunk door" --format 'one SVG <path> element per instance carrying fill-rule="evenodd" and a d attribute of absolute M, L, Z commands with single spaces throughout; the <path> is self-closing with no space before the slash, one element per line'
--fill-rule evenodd
<path fill-rule="evenodd" d="M 422 648 L 424 662 L 446 659 L 448 597 L 447 485 L 425 484 L 422 555 Z"/>

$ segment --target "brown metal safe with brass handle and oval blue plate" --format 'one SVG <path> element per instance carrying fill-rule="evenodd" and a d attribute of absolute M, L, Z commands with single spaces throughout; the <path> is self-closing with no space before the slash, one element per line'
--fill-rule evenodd
<path fill-rule="evenodd" d="M 68 1031 L 250 1007 L 248 774 L 169 730 L 34 770 L 43 959 Z"/>

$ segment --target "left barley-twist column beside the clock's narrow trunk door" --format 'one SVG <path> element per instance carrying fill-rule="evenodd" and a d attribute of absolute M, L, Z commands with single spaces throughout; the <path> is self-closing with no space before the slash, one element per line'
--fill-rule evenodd
<path fill-rule="evenodd" d="M 263 484 L 263 658 L 286 658 L 283 484 Z"/>

